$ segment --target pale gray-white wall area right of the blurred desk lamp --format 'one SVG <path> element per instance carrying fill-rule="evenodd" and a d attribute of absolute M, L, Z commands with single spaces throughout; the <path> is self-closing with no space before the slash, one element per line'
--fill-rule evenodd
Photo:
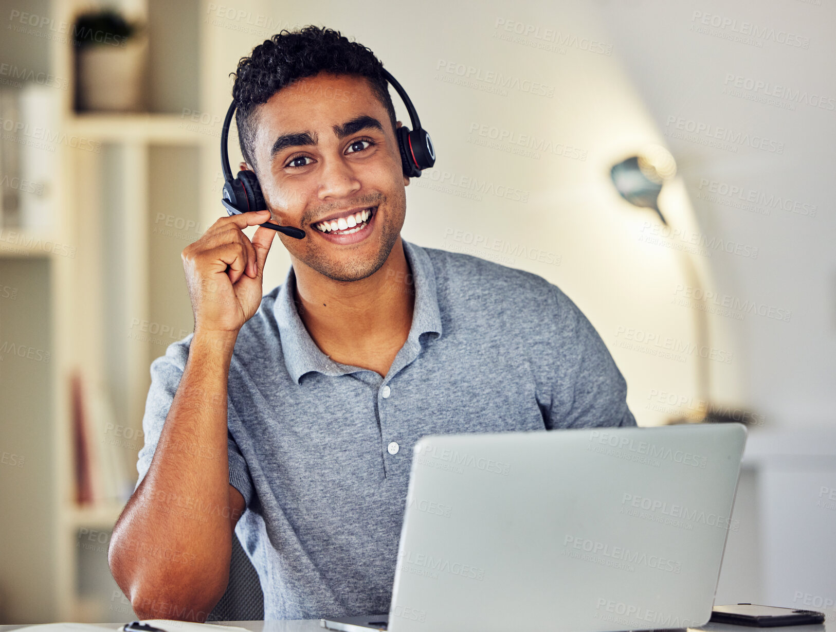
<path fill-rule="evenodd" d="M 789 322 L 757 314 L 742 321 L 724 319 L 742 364 L 742 398 L 765 415 L 767 426 L 833 425 L 836 7 L 827 0 L 659 0 L 595 6 L 661 130 L 675 128 L 675 123 L 668 125 L 669 117 L 675 117 L 784 145 L 782 154 L 748 146 L 733 153 L 666 138 L 701 230 L 759 248 L 757 259 L 721 253 L 711 257 L 718 290 L 792 312 Z M 711 27 L 718 21 L 719 28 Z M 756 27 L 766 36 L 728 39 L 741 36 L 735 29 L 753 32 Z M 793 45 L 786 43 L 787 33 L 794 36 Z M 802 46 L 794 45 L 798 43 Z M 750 81 L 769 87 L 729 94 L 736 82 L 746 86 Z M 784 89 L 790 90 L 789 98 L 766 94 L 783 96 Z M 813 106 L 818 103 L 824 107 Z M 720 203 L 698 199 L 707 189 L 701 188 L 703 181 L 737 186 L 747 195 L 757 191 L 767 200 L 774 196 L 800 202 L 802 212 L 765 205 L 735 208 L 723 203 L 731 196 L 718 196 Z M 813 205 L 815 217 L 804 215 Z M 770 214 L 762 214 L 764 209 Z"/>

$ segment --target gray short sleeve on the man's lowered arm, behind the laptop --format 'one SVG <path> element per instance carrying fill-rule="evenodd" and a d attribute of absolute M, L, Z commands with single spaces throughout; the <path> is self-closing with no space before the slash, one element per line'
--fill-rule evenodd
<path fill-rule="evenodd" d="M 627 406 L 627 382 L 598 332 L 557 286 L 558 339 L 554 360 L 560 367 L 552 385 L 548 430 L 594 426 L 636 426 Z"/>

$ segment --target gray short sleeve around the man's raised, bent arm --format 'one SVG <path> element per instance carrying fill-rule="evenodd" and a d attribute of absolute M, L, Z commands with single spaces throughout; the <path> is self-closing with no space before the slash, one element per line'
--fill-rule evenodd
<path fill-rule="evenodd" d="M 142 417 L 145 445 L 140 449 L 136 461 L 136 470 L 139 472 L 136 487 L 139 487 L 140 482 L 145 478 L 154 458 L 162 428 L 166 423 L 166 416 L 171 409 L 171 402 L 174 400 L 183 371 L 186 369 L 190 343 L 191 334 L 185 339 L 170 344 L 166 349 L 166 354 L 151 363 L 151 385 L 145 400 L 145 414 Z M 247 468 L 247 461 L 228 431 L 227 452 L 229 454 L 229 482 L 241 492 L 249 506 L 252 497 L 252 479 Z"/>

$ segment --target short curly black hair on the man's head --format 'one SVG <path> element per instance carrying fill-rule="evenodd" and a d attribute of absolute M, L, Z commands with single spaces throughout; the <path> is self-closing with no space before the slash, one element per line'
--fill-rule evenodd
<path fill-rule="evenodd" d="M 252 49 L 249 57 L 238 60 L 232 86 L 237 104 L 235 122 L 238 143 L 247 164 L 256 169 L 253 146 L 256 125 L 252 113 L 278 90 L 297 79 L 313 77 L 320 72 L 354 74 L 369 80 L 375 98 L 380 101 L 395 130 L 395 106 L 389 95 L 389 82 L 383 64 L 370 48 L 349 42 L 339 31 L 308 25 L 298 31 L 283 29 Z"/>

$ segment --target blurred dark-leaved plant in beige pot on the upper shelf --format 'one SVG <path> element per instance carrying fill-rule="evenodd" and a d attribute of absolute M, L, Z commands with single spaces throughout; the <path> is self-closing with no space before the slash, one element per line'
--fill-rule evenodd
<path fill-rule="evenodd" d="M 76 110 L 145 110 L 148 38 L 139 22 L 104 8 L 76 18 Z"/>

